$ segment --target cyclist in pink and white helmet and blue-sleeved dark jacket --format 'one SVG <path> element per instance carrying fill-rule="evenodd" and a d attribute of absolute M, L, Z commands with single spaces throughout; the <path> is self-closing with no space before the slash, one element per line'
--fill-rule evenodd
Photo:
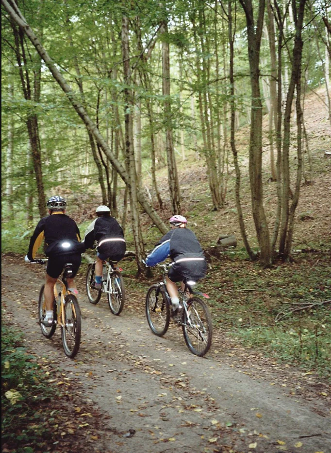
<path fill-rule="evenodd" d="M 155 266 L 168 256 L 174 261 L 166 276 L 166 289 L 174 311 L 182 308 L 179 304 L 176 282 L 184 279 L 199 280 L 205 276 L 207 262 L 197 236 L 186 228 L 187 220 L 182 215 L 174 215 L 169 220 L 171 230 L 155 245 L 147 256 L 146 265 Z M 182 283 L 182 289 L 184 285 Z"/>

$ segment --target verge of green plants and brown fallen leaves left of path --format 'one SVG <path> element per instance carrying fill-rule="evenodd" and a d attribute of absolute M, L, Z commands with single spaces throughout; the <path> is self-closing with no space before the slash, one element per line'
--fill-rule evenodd
<path fill-rule="evenodd" d="M 99 438 L 100 414 L 54 363 L 28 354 L 23 336 L 1 318 L 1 451 L 86 451 Z"/>

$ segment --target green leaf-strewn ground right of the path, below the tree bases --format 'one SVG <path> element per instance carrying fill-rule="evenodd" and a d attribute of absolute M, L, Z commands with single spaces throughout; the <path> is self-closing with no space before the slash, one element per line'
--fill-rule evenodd
<path fill-rule="evenodd" d="M 314 305 L 331 301 L 330 254 L 301 253 L 294 262 L 279 262 L 271 269 L 241 255 L 223 252 L 211 258 L 206 278 L 197 285 L 210 296 L 215 331 L 276 360 L 331 376 L 331 303 Z M 139 295 L 130 304 L 144 310 L 147 288 L 161 273 L 155 269 L 152 279 L 135 279 L 134 261 L 125 260 L 122 267 L 128 294 Z M 312 308 L 299 310 L 306 304 Z M 282 316 L 279 321 L 277 315 Z"/>

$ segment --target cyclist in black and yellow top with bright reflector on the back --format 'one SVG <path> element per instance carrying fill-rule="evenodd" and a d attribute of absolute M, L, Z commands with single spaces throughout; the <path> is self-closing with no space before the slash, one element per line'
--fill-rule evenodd
<path fill-rule="evenodd" d="M 54 284 L 62 273 L 65 264 L 70 262 L 72 274 L 70 278 L 67 278 L 68 286 L 70 291 L 78 294 L 74 277 L 81 265 L 81 254 L 85 251 L 85 248 L 80 242 L 81 236 L 76 222 L 65 214 L 66 200 L 62 196 L 55 195 L 50 197 L 46 206 L 50 215 L 40 219 L 35 227 L 25 262 L 34 260 L 42 240 L 45 239 L 47 244 L 45 254 L 49 257 L 49 261 L 44 290 L 46 315 L 41 323 L 50 327 L 53 324 Z"/>

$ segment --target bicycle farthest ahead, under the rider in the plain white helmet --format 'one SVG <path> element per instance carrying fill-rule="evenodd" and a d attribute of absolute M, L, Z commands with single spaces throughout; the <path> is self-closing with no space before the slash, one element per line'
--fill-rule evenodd
<path fill-rule="evenodd" d="M 94 286 L 96 261 L 89 264 L 86 273 L 86 293 L 91 304 L 96 305 L 102 293 L 107 294 L 110 311 L 116 316 L 121 313 L 125 302 L 125 286 L 121 268 L 115 269 L 114 263 L 108 259 L 102 265 L 101 289 Z"/>

